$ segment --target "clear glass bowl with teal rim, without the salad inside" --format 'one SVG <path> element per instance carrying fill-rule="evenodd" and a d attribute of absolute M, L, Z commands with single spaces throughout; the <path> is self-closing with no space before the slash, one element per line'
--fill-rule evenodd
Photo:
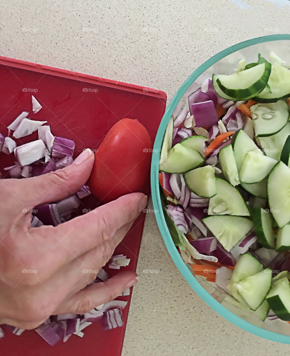
<path fill-rule="evenodd" d="M 261 53 L 262 56 L 264 55 L 267 57 L 269 50 L 273 50 L 276 54 L 278 54 L 278 56 L 283 59 L 290 58 L 290 35 L 277 34 L 258 37 L 224 49 L 222 52 L 219 52 L 212 58 L 208 59 L 208 61 L 204 62 L 200 67 L 198 67 L 190 75 L 190 77 L 181 85 L 180 89 L 177 91 L 174 98 L 171 100 L 169 106 L 167 107 L 156 135 L 151 164 L 151 193 L 157 224 L 164 243 L 173 262 L 175 263 L 182 276 L 186 279 L 187 283 L 191 286 L 191 288 L 204 300 L 204 302 L 206 302 L 210 307 L 212 307 L 217 313 L 219 313 L 225 319 L 231 321 L 233 324 L 239 326 L 240 328 L 249 331 L 252 334 L 264 337 L 265 339 L 290 344 L 290 325 L 288 323 L 281 322 L 279 320 L 280 323 L 284 325 L 283 326 L 281 324 L 281 326 L 280 324 L 276 325 L 275 321 L 273 320 L 270 321 L 268 324 L 263 322 L 249 322 L 246 320 L 247 318 L 243 316 L 243 313 L 234 313 L 232 310 L 229 310 L 231 308 L 228 309 L 224 307 L 224 305 L 222 305 L 212 296 L 213 293 L 209 292 L 210 288 L 206 288 L 204 283 L 202 284 L 201 281 L 198 281 L 193 276 L 189 267 L 186 265 L 185 262 L 183 262 L 180 254 L 178 253 L 167 228 L 161 207 L 158 181 L 160 150 L 167 124 L 174 110 L 176 109 L 177 104 L 180 102 L 180 100 L 182 100 L 183 97 L 186 97 L 188 93 L 190 93 L 190 88 L 193 88 L 192 85 L 194 85 L 197 78 L 200 77 L 204 72 L 208 71 L 210 68 L 218 68 L 219 64 L 222 73 L 222 70 L 224 70 L 224 68 L 228 68 L 228 64 L 226 64 L 226 67 L 224 66 L 225 61 L 227 63 L 227 59 L 225 58 L 227 56 L 232 56 L 233 53 L 242 54 L 246 58 L 247 63 L 249 63 L 255 61 L 253 60 L 253 58 L 257 59 L 258 53 Z M 236 66 L 236 64 L 237 61 L 235 61 L 234 65 Z M 194 90 L 195 89 L 192 89 L 192 91 Z"/>

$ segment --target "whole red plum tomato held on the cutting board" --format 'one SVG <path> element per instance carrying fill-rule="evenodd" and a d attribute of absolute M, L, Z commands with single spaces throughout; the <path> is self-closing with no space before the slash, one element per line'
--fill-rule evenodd
<path fill-rule="evenodd" d="M 88 180 L 90 191 L 108 203 L 121 195 L 142 192 L 151 162 L 149 133 L 137 120 L 118 121 L 95 153 Z"/>

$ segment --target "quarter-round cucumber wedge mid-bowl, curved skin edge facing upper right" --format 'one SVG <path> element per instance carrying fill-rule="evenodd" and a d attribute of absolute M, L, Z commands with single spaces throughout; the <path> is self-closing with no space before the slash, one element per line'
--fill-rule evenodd
<path fill-rule="evenodd" d="M 216 178 L 216 195 L 209 199 L 208 215 L 250 216 L 250 213 L 238 189 Z"/>

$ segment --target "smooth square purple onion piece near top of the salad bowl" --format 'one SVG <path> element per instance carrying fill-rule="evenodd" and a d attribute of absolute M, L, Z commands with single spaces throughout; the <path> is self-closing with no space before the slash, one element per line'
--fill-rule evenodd
<path fill-rule="evenodd" d="M 216 108 L 212 100 L 191 104 L 190 114 L 193 115 L 197 127 L 213 126 L 218 123 Z"/>

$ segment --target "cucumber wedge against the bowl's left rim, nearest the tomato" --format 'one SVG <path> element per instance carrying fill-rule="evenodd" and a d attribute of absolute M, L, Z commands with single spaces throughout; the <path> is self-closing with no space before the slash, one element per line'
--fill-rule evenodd
<path fill-rule="evenodd" d="M 184 173 L 200 166 L 203 162 L 200 153 L 177 143 L 169 151 L 166 160 L 160 163 L 159 170 L 167 173 Z"/>

